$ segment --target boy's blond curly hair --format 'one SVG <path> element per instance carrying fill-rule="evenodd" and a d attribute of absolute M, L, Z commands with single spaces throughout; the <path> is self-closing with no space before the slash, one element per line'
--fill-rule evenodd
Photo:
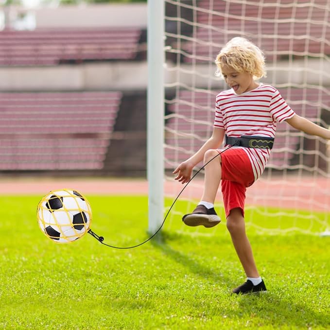
<path fill-rule="evenodd" d="M 265 56 L 251 41 L 235 37 L 228 41 L 215 59 L 216 75 L 221 76 L 223 65 L 235 69 L 237 72 L 252 74 L 254 79 L 266 77 Z"/>

